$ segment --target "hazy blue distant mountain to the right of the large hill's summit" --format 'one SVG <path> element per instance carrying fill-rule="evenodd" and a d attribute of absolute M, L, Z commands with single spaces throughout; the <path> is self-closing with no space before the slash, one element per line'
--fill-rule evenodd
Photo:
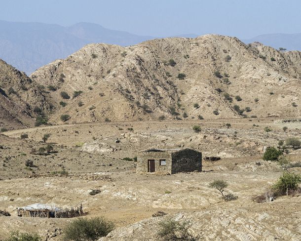
<path fill-rule="evenodd" d="M 301 50 L 301 34 L 265 34 L 242 41 L 245 43 L 257 41 L 276 49 L 282 47 L 287 50 Z"/>

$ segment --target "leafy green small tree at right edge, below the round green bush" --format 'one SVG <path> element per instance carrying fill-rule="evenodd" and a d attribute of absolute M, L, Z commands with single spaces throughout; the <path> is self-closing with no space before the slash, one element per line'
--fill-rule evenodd
<path fill-rule="evenodd" d="M 288 196 L 289 190 L 297 190 L 299 183 L 301 183 L 301 175 L 284 172 L 273 188 L 281 194 L 286 192 Z"/>

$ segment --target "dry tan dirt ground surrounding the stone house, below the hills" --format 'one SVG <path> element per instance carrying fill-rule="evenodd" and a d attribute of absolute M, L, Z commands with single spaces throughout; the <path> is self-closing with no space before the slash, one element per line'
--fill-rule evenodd
<path fill-rule="evenodd" d="M 226 123 L 231 124 L 230 128 Z M 193 132 L 193 125 L 200 125 L 202 131 Z M 265 126 L 272 131 L 266 133 Z M 288 131 L 284 132 L 283 126 Z M 131 225 L 145 222 L 143 232 L 150 232 L 152 226 L 148 224 L 156 221 L 151 215 L 158 210 L 172 217 L 182 213 L 196 222 L 194 228 L 205 234 L 205 240 L 301 240 L 301 196 L 281 197 L 270 203 L 253 201 L 283 172 L 277 163 L 262 160 L 263 147 L 276 146 L 279 139 L 300 137 L 300 129 L 301 123 L 271 118 L 83 123 L 6 132 L 0 135 L 0 157 L 5 165 L 0 167 L 0 210 L 7 210 L 11 216 L 0 216 L 0 237 L 18 229 L 37 232 L 48 241 L 61 241 L 64 226 L 72 219 L 16 215 L 16 207 L 39 202 L 58 206 L 81 203 L 87 217 L 109 218 L 117 229 L 107 240 L 144 240 L 141 228 L 131 233 Z M 29 139 L 21 140 L 21 133 L 27 133 Z M 44 133 L 51 134 L 47 142 L 56 152 L 30 154 L 33 147 L 45 145 L 41 142 Z M 122 160 L 153 147 L 188 147 L 201 151 L 203 157 L 222 159 L 203 161 L 202 172 L 173 175 L 138 175 L 134 161 Z M 300 161 L 300 150 L 290 149 L 289 157 Z M 27 159 L 34 161 L 31 169 L 25 168 Z M 62 168 L 68 171 L 67 176 L 51 174 Z M 301 168 L 290 171 L 301 173 Z M 234 193 L 238 199 L 221 201 L 218 191 L 208 187 L 214 179 L 226 180 L 226 193 Z M 94 189 L 100 193 L 89 195 Z M 259 218 L 264 213 L 269 218 Z M 235 227 L 227 225 L 223 231 L 220 221 L 202 220 L 206 215 L 211 219 L 227 217 Z M 216 225 L 216 230 L 200 231 L 202 224 Z M 257 233 L 260 227 L 268 233 Z M 231 230 L 234 228 L 243 233 Z"/>

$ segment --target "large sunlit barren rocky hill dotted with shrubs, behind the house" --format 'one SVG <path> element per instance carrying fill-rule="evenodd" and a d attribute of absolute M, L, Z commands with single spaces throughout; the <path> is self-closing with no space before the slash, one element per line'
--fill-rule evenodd
<path fill-rule="evenodd" d="M 249 107 L 244 112 L 248 116 L 295 117 L 301 110 L 300 63 L 298 51 L 279 52 L 205 35 L 129 47 L 89 44 L 41 67 L 31 78 L 59 88 L 51 93 L 57 108 L 53 122 L 60 122 L 63 114 L 70 115 L 71 122 L 156 120 L 161 115 L 175 119 L 184 113 L 189 119 L 242 117 L 234 105 Z M 186 75 L 184 80 L 179 80 L 180 73 Z M 71 97 L 74 91 L 83 93 L 64 100 L 61 91 Z M 242 100 L 236 100 L 237 95 Z M 61 107 L 60 101 L 67 106 Z"/>

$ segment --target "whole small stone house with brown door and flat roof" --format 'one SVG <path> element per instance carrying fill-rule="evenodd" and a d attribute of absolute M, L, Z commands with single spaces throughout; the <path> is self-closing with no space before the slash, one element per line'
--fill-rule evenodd
<path fill-rule="evenodd" d="M 202 170 L 202 153 L 192 149 L 150 149 L 137 158 L 140 174 L 174 174 Z"/>

